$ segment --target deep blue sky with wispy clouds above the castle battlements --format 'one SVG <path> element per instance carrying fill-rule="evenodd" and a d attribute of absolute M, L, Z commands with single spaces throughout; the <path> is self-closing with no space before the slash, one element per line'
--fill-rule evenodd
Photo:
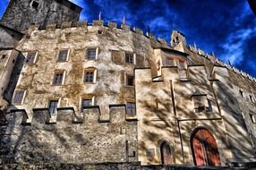
<path fill-rule="evenodd" d="M 72 0 L 81 5 L 81 21 L 98 19 L 126 23 L 170 40 L 175 29 L 187 43 L 230 61 L 256 77 L 256 16 L 247 0 Z M 2 15 L 7 0 L 0 1 Z"/>

